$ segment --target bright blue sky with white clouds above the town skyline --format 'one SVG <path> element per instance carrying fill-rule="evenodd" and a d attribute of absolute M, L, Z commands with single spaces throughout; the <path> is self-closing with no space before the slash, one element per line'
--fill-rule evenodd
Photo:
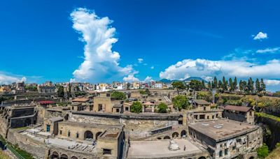
<path fill-rule="evenodd" d="M 262 77 L 278 89 L 279 7 L 279 1 L 1 1 L 0 82 L 225 75 Z M 78 12 L 97 17 L 88 22 L 112 20 L 104 31 L 116 30 L 104 41 L 118 41 L 106 54 L 118 54 L 106 62 L 86 58 L 85 47 L 97 52 L 83 36 L 97 34 L 73 28 L 73 19 L 83 18 L 73 15 Z M 266 36 L 254 40 L 260 32 Z M 90 69 L 80 68 L 85 61 Z"/>

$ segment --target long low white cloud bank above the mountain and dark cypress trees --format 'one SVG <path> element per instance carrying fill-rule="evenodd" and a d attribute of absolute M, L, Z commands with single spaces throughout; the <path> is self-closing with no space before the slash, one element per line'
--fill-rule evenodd
<path fill-rule="evenodd" d="M 280 77 L 280 61 L 274 59 L 263 64 L 242 61 L 212 61 L 207 59 L 185 59 L 169 66 L 160 72 L 160 78 L 166 79 L 186 79 L 186 77 Z"/>

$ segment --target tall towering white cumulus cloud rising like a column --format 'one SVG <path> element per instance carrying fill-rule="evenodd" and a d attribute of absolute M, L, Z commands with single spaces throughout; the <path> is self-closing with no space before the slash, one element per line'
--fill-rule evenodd
<path fill-rule="evenodd" d="M 78 8 L 71 13 L 71 21 L 73 29 L 81 35 L 79 40 L 85 43 L 84 61 L 73 72 L 71 81 L 104 82 L 134 73 L 132 66 L 120 66 L 120 54 L 112 50 L 118 39 L 109 17 L 98 17 L 92 10 Z"/>

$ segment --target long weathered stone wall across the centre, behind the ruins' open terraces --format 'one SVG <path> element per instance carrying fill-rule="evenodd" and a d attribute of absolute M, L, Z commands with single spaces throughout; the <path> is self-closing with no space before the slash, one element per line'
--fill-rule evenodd
<path fill-rule="evenodd" d="M 81 115 L 83 114 L 83 115 Z M 94 114 L 75 112 L 69 115 L 69 121 L 80 123 L 122 124 L 130 137 L 147 137 L 151 130 L 165 126 L 179 126 L 179 114 Z"/>

